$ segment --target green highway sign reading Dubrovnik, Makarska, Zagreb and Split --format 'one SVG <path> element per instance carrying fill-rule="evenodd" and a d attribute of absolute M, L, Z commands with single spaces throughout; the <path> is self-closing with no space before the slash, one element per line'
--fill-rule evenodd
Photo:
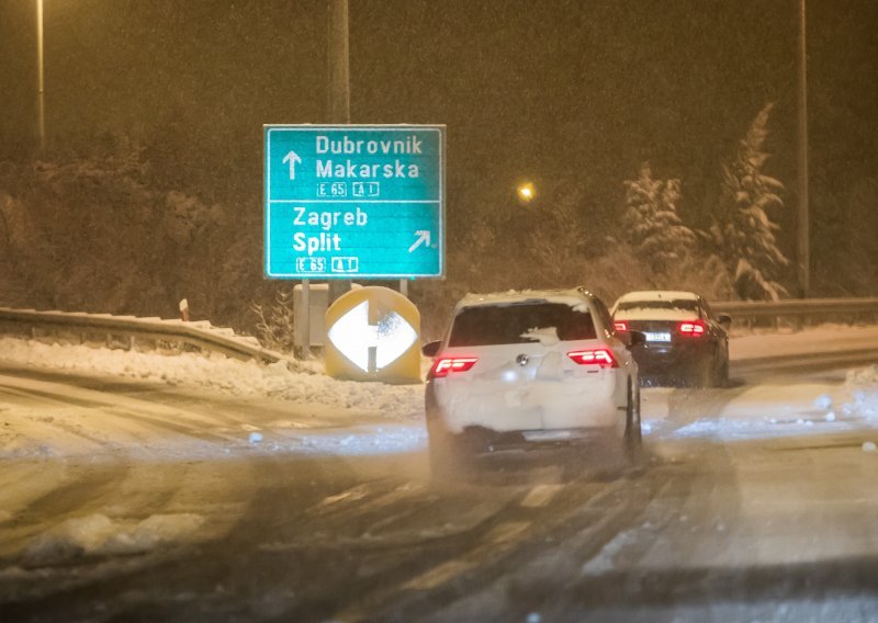
<path fill-rule="evenodd" d="M 444 274 L 443 125 L 266 125 L 270 279 Z"/>

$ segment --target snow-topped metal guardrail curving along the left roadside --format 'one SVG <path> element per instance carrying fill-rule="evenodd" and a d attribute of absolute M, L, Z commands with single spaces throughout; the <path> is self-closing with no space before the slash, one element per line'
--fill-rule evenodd
<path fill-rule="evenodd" d="M 41 332 L 67 333 L 79 342 L 99 337 L 111 346 L 113 338 L 124 338 L 123 347 L 133 349 L 137 340 L 180 343 L 199 350 L 223 353 L 245 361 L 267 363 L 285 360 L 282 354 L 259 346 L 255 338 L 237 336 L 232 329 L 206 321 L 183 322 L 161 318 L 37 312 L 0 307 L 0 333 L 14 332 L 36 338 Z"/>

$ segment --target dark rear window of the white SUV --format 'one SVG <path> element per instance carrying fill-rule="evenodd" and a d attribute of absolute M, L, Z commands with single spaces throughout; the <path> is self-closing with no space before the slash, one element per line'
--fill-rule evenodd
<path fill-rule="evenodd" d="M 519 303 L 464 307 L 454 318 L 450 347 L 533 343 L 522 338 L 532 329 L 554 327 L 562 341 L 597 337 L 589 312 L 577 312 L 564 303 Z"/>

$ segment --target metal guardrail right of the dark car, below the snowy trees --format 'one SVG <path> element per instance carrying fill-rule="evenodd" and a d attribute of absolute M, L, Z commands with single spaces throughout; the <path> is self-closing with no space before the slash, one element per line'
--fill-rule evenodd
<path fill-rule="evenodd" d="M 759 320 L 790 320 L 798 324 L 832 320 L 853 324 L 878 320 L 878 297 L 870 298 L 786 298 L 784 301 L 733 301 L 712 303 L 716 312 L 729 314 L 732 321 L 752 325 Z"/>

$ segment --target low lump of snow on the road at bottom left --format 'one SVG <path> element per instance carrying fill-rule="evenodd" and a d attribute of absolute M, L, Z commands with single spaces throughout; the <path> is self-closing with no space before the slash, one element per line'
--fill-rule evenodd
<path fill-rule="evenodd" d="M 81 556 L 143 554 L 190 540 L 203 523 L 204 518 L 192 513 L 154 514 L 136 523 L 91 514 L 44 532 L 22 556 L 26 565 L 42 566 Z"/>

